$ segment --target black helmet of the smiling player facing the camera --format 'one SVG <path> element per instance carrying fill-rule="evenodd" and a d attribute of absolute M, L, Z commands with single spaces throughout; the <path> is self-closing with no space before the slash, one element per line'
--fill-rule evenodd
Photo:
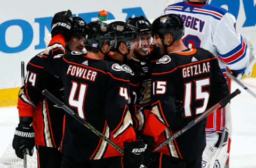
<path fill-rule="evenodd" d="M 152 32 L 152 24 L 144 16 L 128 18 L 125 23 L 132 24 L 139 35 L 145 35 Z"/>

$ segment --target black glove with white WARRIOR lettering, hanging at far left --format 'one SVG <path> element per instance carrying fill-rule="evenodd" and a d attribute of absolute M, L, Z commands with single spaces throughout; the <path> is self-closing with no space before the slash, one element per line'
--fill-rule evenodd
<path fill-rule="evenodd" d="M 19 158 L 23 158 L 23 151 L 32 156 L 35 146 L 35 132 L 28 124 L 19 123 L 15 130 L 12 147 Z"/>

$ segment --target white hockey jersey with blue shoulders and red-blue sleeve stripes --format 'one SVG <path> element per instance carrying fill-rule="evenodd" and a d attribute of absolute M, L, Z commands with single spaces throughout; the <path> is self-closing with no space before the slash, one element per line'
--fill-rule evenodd
<path fill-rule="evenodd" d="M 164 14 L 180 15 L 185 25 L 182 40 L 190 48 L 204 48 L 218 57 L 222 72 L 243 72 L 249 63 L 250 50 L 236 32 L 236 20 L 225 9 L 209 4 L 180 2 L 169 5 Z M 225 75 L 226 76 L 226 75 Z"/>

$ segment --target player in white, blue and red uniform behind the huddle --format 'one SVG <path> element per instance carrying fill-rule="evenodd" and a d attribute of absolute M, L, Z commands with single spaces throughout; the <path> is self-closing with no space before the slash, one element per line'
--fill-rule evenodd
<path fill-rule="evenodd" d="M 243 37 L 236 32 L 235 17 L 225 9 L 206 4 L 206 2 L 207 0 L 190 0 L 171 4 L 164 10 L 164 14 L 175 13 L 181 17 L 185 22 L 185 35 L 182 39 L 185 45 L 190 48 L 202 47 L 213 53 L 218 58 L 225 77 L 226 68 L 230 69 L 238 79 L 243 77 L 244 72 L 248 75 L 251 70 L 246 68 L 253 60 L 253 56 L 250 56 L 252 54 Z M 226 79 L 230 89 L 230 79 L 228 77 Z M 226 154 L 216 158 L 221 167 L 226 164 L 231 140 L 230 115 L 228 104 L 227 107 L 214 111 L 207 117 L 205 129 L 207 141 L 205 150 L 207 151 L 203 156 L 202 167 L 210 166 L 211 162 L 214 164 L 214 155 L 218 155 L 222 144 L 227 144 L 228 140 L 228 145 L 221 149 L 225 150 Z"/>

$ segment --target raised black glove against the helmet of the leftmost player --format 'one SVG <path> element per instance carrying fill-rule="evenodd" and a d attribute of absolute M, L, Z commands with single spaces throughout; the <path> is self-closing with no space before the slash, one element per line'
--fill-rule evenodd
<path fill-rule="evenodd" d="M 73 22 L 70 10 L 56 13 L 52 18 L 52 37 L 61 33 L 68 38 L 70 36 L 71 25 Z"/>

